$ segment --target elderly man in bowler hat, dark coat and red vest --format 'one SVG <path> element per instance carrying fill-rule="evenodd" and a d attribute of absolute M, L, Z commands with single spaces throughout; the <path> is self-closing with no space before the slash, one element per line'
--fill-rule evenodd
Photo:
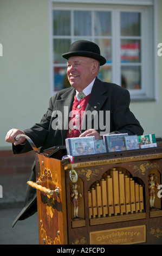
<path fill-rule="evenodd" d="M 67 59 L 71 87 L 51 97 L 48 111 L 39 124 L 24 131 L 11 129 L 7 133 L 5 140 L 13 143 L 14 154 L 32 149 L 24 138 L 15 141 L 20 133 L 29 136 L 37 148 L 41 147 L 41 151 L 54 145 L 64 145 L 65 139 L 70 137 L 95 136 L 95 139 L 101 139 L 101 135 L 110 132 L 143 134 L 139 121 L 129 109 L 128 90 L 97 78 L 100 66 L 106 63 L 98 45 L 86 40 L 75 41 L 70 45 L 69 52 L 62 56 Z M 93 112 L 94 117 L 86 118 L 89 112 Z M 35 181 L 35 169 L 31 180 Z M 14 224 L 35 211 L 36 192 L 29 187 L 24 209 Z"/>

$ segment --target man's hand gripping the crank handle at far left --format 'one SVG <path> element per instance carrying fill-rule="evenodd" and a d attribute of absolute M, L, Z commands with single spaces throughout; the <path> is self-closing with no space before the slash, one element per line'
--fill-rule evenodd
<path fill-rule="evenodd" d="M 25 134 L 23 131 L 18 130 L 18 129 L 11 129 L 8 131 L 7 135 L 5 136 L 5 141 L 6 142 L 10 142 L 10 143 L 14 143 L 14 145 L 18 145 L 21 143 L 25 143 L 25 138 L 20 138 L 18 141 L 15 141 L 15 137 L 18 134 Z"/>

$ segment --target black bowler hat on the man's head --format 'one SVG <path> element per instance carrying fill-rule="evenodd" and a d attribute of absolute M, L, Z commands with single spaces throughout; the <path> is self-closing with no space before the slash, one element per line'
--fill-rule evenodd
<path fill-rule="evenodd" d="M 78 40 L 70 45 L 69 52 L 62 54 L 62 57 L 68 59 L 72 56 L 82 56 L 96 59 L 100 66 L 106 63 L 106 59 L 100 55 L 100 48 L 94 42 L 87 40 Z"/>

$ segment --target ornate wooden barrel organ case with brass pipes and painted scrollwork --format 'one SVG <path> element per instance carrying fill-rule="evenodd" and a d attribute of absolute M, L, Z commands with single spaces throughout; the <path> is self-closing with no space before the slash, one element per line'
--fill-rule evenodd
<path fill-rule="evenodd" d="M 62 160 L 65 150 L 36 153 L 37 182 L 28 183 L 37 188 L 40 244 L 162 244 L 162 192 L 156 186 L 162 184 L 160 146 L 74 157 L 77 181 L 69 175 L 69 158 Z M 150 174 L 155 180 L 152 209 Z"/>

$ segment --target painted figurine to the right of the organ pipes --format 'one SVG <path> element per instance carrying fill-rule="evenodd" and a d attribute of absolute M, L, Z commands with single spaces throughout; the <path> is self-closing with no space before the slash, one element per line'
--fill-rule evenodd
<path fill-rule="evenodd" d="M 155 200 L 155 187 L 158 187 L 159 184 L 155 183 L 154 174 L 148 175 L 148 190 L 149 190 L 149 198 L 150 198 L 150 209 L 154 208 L 154 200 Z"/>

